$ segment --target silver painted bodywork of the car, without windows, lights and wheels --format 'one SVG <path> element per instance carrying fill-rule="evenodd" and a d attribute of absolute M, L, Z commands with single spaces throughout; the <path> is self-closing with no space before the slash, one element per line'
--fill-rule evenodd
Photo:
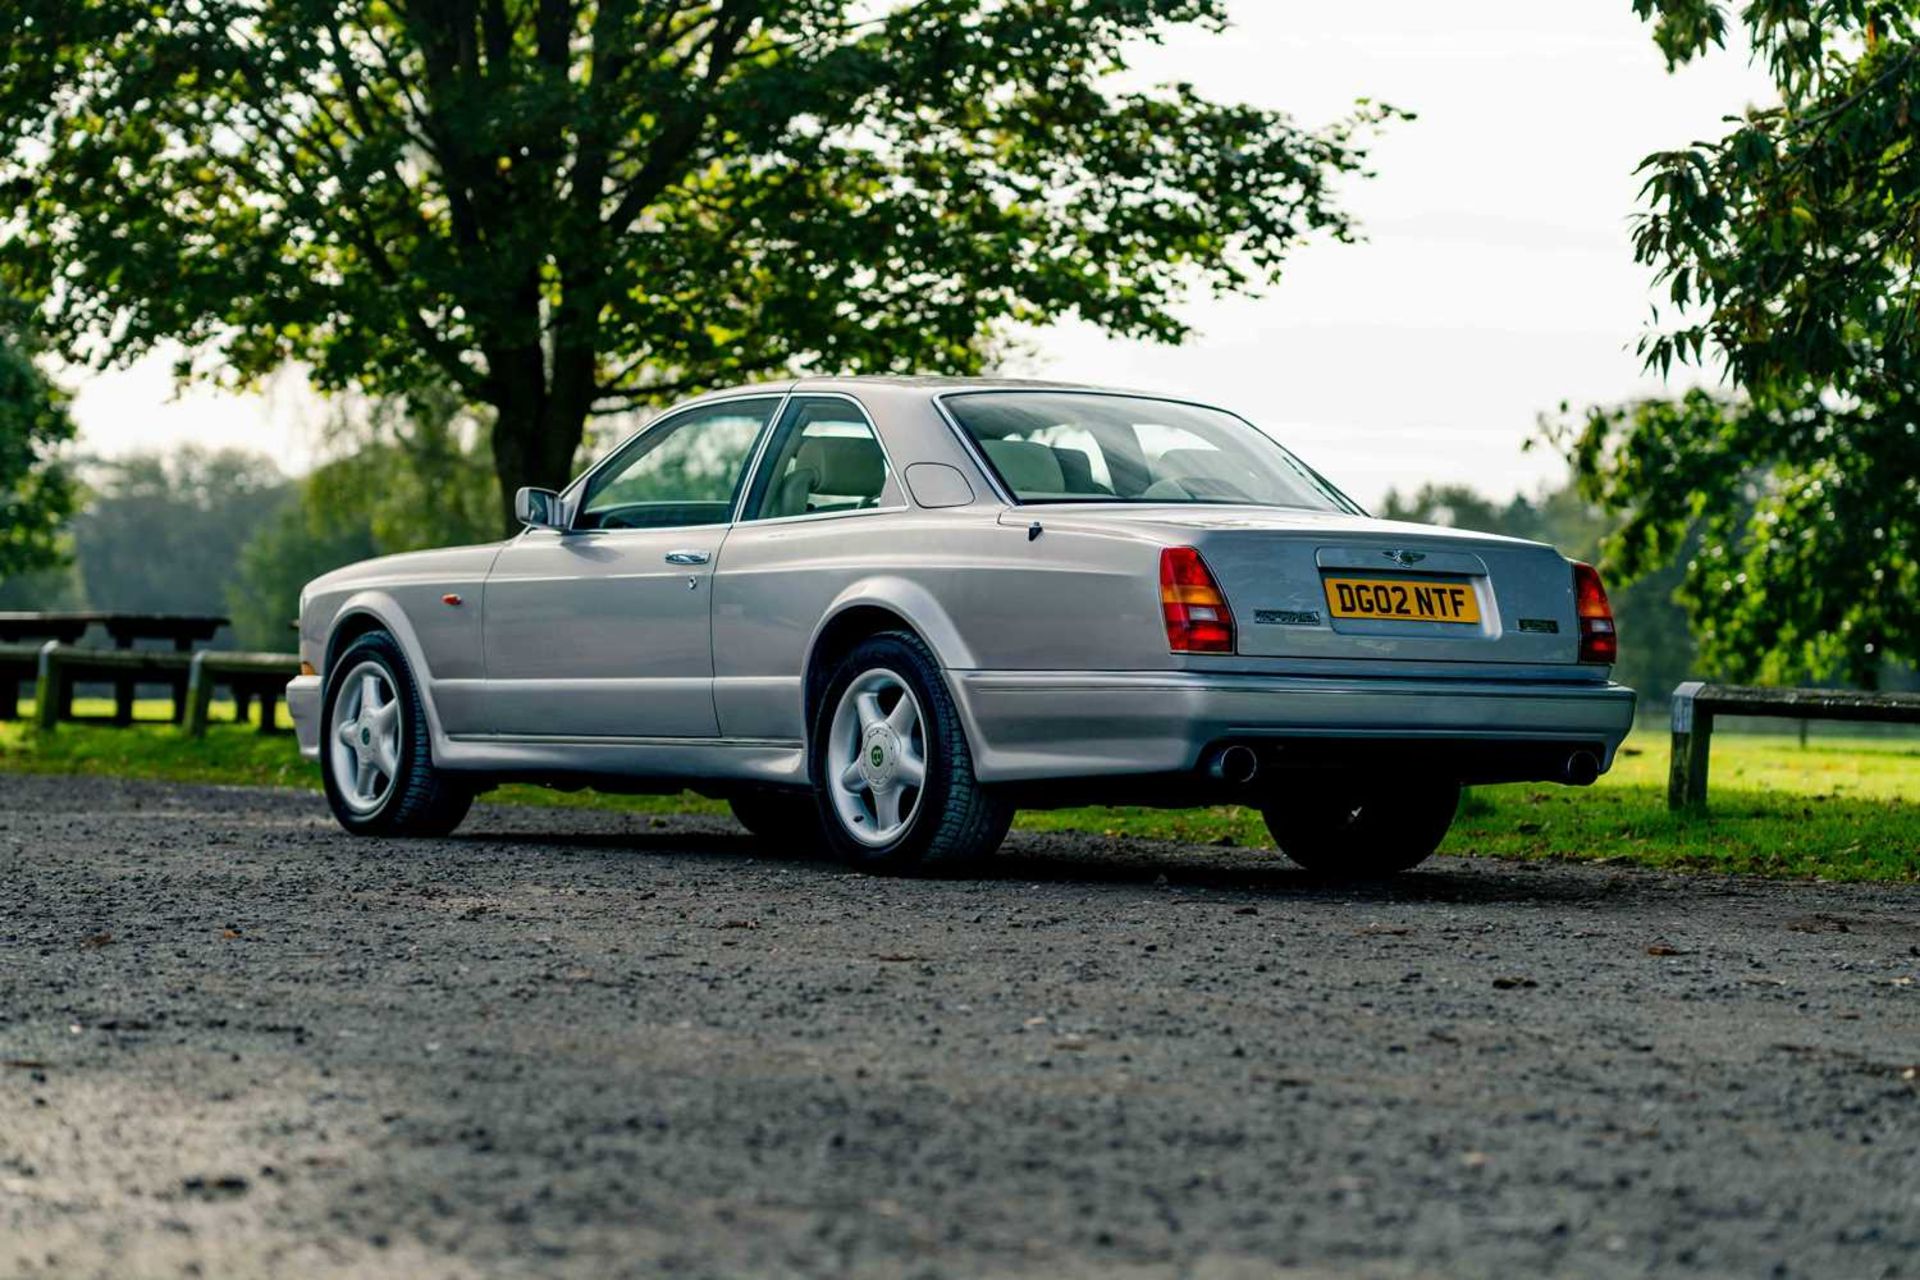
<path fill-rule="evenodd" d="M 1332 510 L 1021 507 L 939 403 L 975 390 L 1025 388 L 822 378 L 689 401 L 645 430 L 726 399 L 776 397 L 772 422 L 795 395 L 851 401 L 885 457 L 879 505 L 745 520 L 749 478 L 726 524 L 530 528 L 367 560 L 309 583 L 301 656 L 326 670 L 344 628 L 386 628 L 420 685 L 434 762 L 492 775 L 804 785 L 806 674 L 851 610 L 891 616 L 933 649 L 985 783 L 1198 770 L 1223 735 L 1565 739 L 1599 743 L 1611 764 L 1634 695 L 1576 662 L 1572 578 L 1553 549 Z M 906 484 L 922 466 L 962 484 L 941 478 L 922 501 Z M 589 476 L 561 495 L 568 522 Z M 1213 568 L 1238 652 L 1167 652 L 1169 545 Z M 1323 570 L 1409 572 L 1386 558 L 1398 551 L 1425 557 L 1413 572 L 1469 581 L 1482 622 L 1325 616 Z M 1559 631 L 1523 631 L 1521 618 Z M 319 695 L 321 677 L 288 689 L 309 758 Z"/>

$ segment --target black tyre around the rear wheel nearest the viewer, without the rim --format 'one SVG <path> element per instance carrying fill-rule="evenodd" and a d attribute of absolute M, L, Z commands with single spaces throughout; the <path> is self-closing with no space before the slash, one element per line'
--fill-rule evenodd
<path fill-rule="evenodd" d="M 924 714 L 927 750 L 925 783 L 920 787 L 914 814 L 904 831 L 883 846 L 854 839 L 828 793 L 828 787 L 835 785 L 828 766 L 835 708 L 856 677 L 876 670 L 891 672 L 912 689 Z M 991 856 L 1014 821 L 1014 808 L 973 777 L 973 750 L 966 741 L 960 710 L 947 693 L 939 660 L 918 635 L 908 631 L 868 637 L 835 666 L 826 695 L 814 708 L 808 775 L 828 848 L 862 871 L 960 873 Z"/>

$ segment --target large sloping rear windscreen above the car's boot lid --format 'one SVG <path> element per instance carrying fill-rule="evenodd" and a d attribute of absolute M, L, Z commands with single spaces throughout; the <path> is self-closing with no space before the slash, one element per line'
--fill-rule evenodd
<path fill-rule="evenodd" d="M 1269 436 L 1219 409 L 1083 391 L 962 391 L 943 403 L 1021 503 L 1359 510 Z"/>

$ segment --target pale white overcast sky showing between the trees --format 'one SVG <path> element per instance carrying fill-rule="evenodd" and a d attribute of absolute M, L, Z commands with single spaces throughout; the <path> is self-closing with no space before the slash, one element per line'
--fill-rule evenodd
<path fill-rule="evenodd" d="M 1183 347 L 1087 326 L 1033 336 L 1021 372 L 1202 395 L 1240 409 L 1363 503 L 1457 480 L 1507 495 L 1557 478 L 1521 443 L 1542 411 L 1659 384 L 1634 340 L 1634 167 L 1722 132 L 1766 98 L 1741 56 L 1667 75 L 1628 0 L 1236 0 L 1225 36 L 1144 50 L 1139 73 L 1315 125 L 1369 96 L 1419 113 L 1348 188 L 1365 244 L 1315 244 L 1263 297 L 1196 301 Z M 165 359 L 77 384 L 98 453 L 248 445 L 288 470 L 319 445 L 298 378 L 267 395 L 175 395 Z"/>

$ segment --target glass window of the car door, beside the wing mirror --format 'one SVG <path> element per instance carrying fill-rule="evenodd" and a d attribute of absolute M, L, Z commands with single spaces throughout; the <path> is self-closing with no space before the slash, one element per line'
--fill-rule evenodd
<path fill-rule="evenodd" d="M 689 409 L 641 432 L 588 482 L 576 530 L 726 524 L 778 395 Z"/>

